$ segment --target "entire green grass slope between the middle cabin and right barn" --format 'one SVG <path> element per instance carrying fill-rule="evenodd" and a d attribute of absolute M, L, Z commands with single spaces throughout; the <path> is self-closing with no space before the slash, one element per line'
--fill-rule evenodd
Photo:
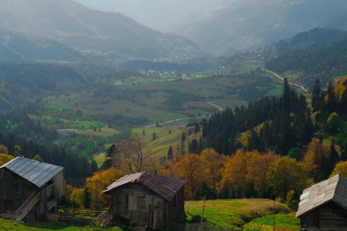
<path fill-rule="evenodd" d="M 186 201 L 185 212 L 192 217 L 201 216 L 202 206 L 202 201 Z M 285 204 L 275 202 L 275 213 L 276 230 L 300 229 L 295 212 L 290 211 Z M 245 231 L 273 230 L 273 201 L 269 199 L 209 200 L 205 203 L 204 218 L 207 222 L 219 226 L 243 226 Z"/>

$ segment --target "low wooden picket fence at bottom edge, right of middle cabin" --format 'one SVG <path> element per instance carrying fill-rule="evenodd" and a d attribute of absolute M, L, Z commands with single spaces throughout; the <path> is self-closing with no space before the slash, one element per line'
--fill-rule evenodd
<path fill-rule="evenodd" d="M 204 223 L 200 230 L 200 223 L 178 223 L 170 226 L 171 231 L 242 231 L 237 227 L 221 227 L 211 223 Z"/>

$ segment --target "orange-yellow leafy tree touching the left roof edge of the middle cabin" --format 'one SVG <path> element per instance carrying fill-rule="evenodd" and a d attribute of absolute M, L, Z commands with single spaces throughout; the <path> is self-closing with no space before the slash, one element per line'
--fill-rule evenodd
<path fill-rule="evenodd" d="M 117 170 L 115 168 L 108 168 L 103 171 L 94 172 L 94 175 L 92 177 L 88 177 L 86 179 L 85 187 L 88 188 L 88 191 L 91 195 L 92 208 L 105 208 L 110 204 L 110 195 L 106 195 L 101 192 L 123 175 L 124 172 L 120 170 Z"/>

